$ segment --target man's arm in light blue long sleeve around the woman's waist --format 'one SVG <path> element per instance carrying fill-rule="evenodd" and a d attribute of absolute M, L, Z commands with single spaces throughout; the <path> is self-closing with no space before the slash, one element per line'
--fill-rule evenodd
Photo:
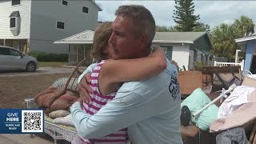
<path fill-rule="evenodd" d="M 162 114 L 166 110 L 170 110 L 170 106 L 165 105 L 168 100 L 161 98 L 162 95 L 156 92 L 157 90 L 150 91 L 152 88 L 145 86 L 145 83 L 134 83 L 138 84 L 132 86 L 136 90 L 121 90 L 121 88 L 115 98 L 107 102 L 106 106 L 102 106 L 97 114 L 91 116 L 86 114 L 78 102 L 71 106 L 72 118 L 78 134 L 82 138 L 102 138 L 155 114 Z M 142 87 L 142 85 L 144 86 Z M 138 89 L 146 91 L 143 93 L 144 97 L 138 93 Z M 150 94 L 154 94 L 154 96 Z"/>

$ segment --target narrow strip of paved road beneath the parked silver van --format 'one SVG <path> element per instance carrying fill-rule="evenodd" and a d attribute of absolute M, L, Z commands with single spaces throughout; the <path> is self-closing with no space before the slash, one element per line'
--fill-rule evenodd
<path fill-rule="evenodd" d="M 39 67 L 39 69 L 34 72 L 1 71 L 0 77 L 27 76 L 27 75 L 36 75 L 36 74 L 65 74 L 65 73 L 71 73 L 73 70 L 74 70 L 73 67 Z"/>

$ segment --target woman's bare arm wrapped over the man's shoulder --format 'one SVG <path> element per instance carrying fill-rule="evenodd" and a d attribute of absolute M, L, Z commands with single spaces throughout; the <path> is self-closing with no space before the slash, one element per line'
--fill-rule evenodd
<path fill-rule="evenodd" d="M 166 69 L 166 54 L 163 50 L 154 50 L 147 58 L 107 60 L 103 63 L 99 86 L 102 94 L 113 91 L 121 82 L 139 81 L 160 74 Z"/>

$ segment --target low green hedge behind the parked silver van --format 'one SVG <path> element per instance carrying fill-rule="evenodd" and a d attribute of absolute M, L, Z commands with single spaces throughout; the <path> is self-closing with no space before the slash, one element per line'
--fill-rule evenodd
<path fill-rule="evenodd" d="M 30 51 L 28 55 L 37 58 L 38 62 L 68 62 L 68 54 L 46 54 L 42 51 Z"/>

